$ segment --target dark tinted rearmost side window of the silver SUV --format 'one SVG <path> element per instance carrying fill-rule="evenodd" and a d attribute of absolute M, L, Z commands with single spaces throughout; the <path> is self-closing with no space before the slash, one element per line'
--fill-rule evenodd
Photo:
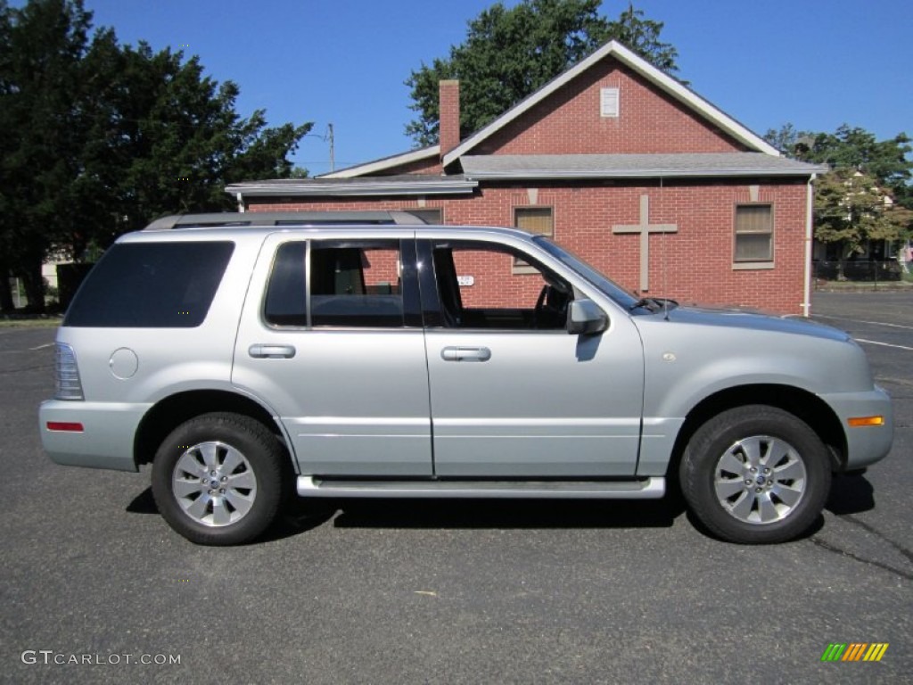
<path fill-rule="evenodd" d="M 232 242 L 121 243 L 89 273 L 64 326 L 194 328 L 206 318 Z"/>

